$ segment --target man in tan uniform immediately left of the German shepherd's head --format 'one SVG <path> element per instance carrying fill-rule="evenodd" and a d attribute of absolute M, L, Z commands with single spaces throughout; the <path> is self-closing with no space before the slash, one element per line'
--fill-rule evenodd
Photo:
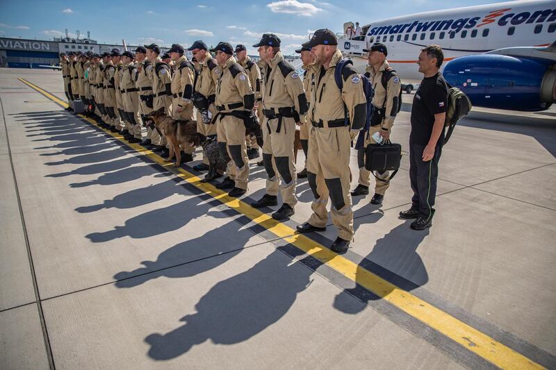
<path fill-rule="evenodd" d="M 139 108 L 141 121 L 145 122 L 145 116 L 153 112 L 153 95 L 152 95 L 152 64 L 147 60 L 147 49 L 145 47 L 137 47 L 135 50 L 135 58 L 137 62 L 137 71 L 135 76 L 135 86 L 139 96 Z M 156 146 L 158 143 L 158 133 L 154 131 L 154 124 L 146 127 L 147 138 L 142 141 L 143 146 Z M 155 141 L 152 142 L 152 137 Z"/>

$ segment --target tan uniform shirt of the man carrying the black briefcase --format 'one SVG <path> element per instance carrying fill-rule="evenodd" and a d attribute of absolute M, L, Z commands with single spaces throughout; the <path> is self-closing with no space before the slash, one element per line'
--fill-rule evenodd
<path fill-rule="evenodd" d="M 384 60 L 384 64 L 376 74 L 372 66 L 368 66 L 366 69 L 369 74 L 370 82 L 373 84 L 373 89 L 375 90 L 373 106 L 379 109 L 386 108 L 381 125 L 385 130 L 389 130 L 394 124 L 395 116 L 398 114 L 398 98 L 402 88 L 398 76 L 393 76 L 389 79 L 386 84 L 386 89 L 382 86 L 382 74 L 387 68 L 389 68 L 388 60 Z"/>

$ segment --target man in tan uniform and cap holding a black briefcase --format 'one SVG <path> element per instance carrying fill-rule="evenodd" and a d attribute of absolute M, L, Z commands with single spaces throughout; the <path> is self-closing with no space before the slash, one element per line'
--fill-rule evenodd
<path fill-rule="evenodd" d="M 366 75 L 373 84 L 375 96 L 373 97 L 373 117 L 370 120 L 369 132 L 361 148 L 357 150 L 357 162 L 359 165 L 359 185 L 352 191 L 352 196 L 369 194 L 370 171 L 365 168 L 365 149 L 368 144 L 376 144 L 373 134 L 381 133 L 384 140 L 390 139 L 390 133 L 394 124 L 395 116 L 398 114 L 398 104 L 402 84 L 400 78 L 390 68 L 386 56 L 388 49 L 386 45 L 375 43 L 370 49 L 363 50 L 368 52 L 369 66 Z M 383 77 L 383 74 L 387 74 Z M 386 78 L 386 88 L 382 85 L 382 80 Z M 370 203 L 380 204 L 384 199 L 384 193 L 388 189 L 389 171 L 377 172 L 375 194 Z"/>

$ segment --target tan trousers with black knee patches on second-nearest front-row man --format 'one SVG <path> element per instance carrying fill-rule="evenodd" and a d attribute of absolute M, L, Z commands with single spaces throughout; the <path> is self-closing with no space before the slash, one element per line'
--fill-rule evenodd
<path fill-rule="evenodd" d="M 278 119 L 265 117 L 263 122 L 263 163 L 268 174 L 266 194 L 276 196 L 280 192 L 282 201 L 291 208 L 297 204 L 295 197 L 297 173 L 293 155 L 295 126 L 295 119 L 283 117 L 280 132 L 277 133 Z"/>

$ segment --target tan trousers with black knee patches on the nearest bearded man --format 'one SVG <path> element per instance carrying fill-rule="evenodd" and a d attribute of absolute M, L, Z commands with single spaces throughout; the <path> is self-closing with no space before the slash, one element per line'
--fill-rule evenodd
<path fill-rule="evenodd" d="M 307 180 L 315 196 L 311 204 L 313 215 L 309 224 L 325 227 L 328 221 L 327 203 L 332 200 L 330 213 L 338 228 L 338 237 L 353 237 L 353 210 L 350 194 L 350 128 L 309 128 Z"/>

